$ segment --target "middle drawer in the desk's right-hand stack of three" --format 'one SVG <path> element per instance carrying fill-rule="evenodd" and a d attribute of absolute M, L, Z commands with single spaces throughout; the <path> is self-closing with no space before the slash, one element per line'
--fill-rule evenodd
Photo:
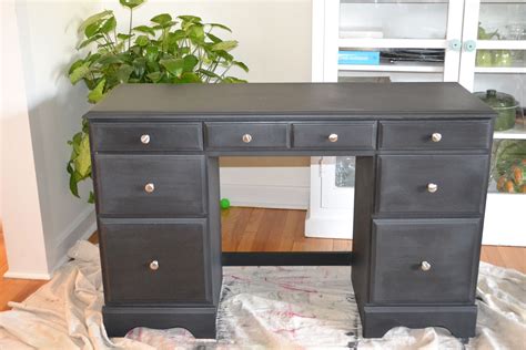
<path fill-rule="evenodd" d="M 479 214 L 488 155 L 382 155 L 376 212 Z"/>

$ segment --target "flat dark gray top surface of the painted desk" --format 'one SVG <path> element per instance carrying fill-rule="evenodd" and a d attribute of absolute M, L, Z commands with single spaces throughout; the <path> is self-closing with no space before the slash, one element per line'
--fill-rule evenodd
<path fill-rule="evenodd" d="M 494 112 L 457 83 L 123 84 L 89 119 L 206 119 L 225 115 L 360 119 L 490 117 Z"/>

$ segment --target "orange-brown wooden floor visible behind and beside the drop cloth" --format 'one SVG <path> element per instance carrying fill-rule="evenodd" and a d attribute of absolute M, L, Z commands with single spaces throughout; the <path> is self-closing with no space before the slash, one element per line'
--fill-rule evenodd
<path fill-rule="evenodd" d="M 305 210 L 233 207 L 221 214 L 223 251 L 352 250 L 351 240 L 305 238 Z M 90 238 L 97 243 L 97 235 Z M 481 260 L 526 274 L 526 248 L 484 246 Z M 22 301 L 45 281 L 6 279 L 6 249 L 0 230 L 0 310 Z"/>

